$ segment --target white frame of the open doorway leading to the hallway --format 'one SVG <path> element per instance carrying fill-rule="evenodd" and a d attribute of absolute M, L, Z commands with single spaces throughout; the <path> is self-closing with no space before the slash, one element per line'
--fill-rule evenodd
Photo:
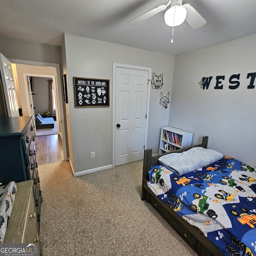
<path fill-rule="evenodd" d="M 19 60 L 19 59 L 12 59 L 9 58 L 10 62 L 14 64 L 25 64 L 30 66 L 42 66 L 42 67 L 53 67 L 56 68 L 56 93 L 57 93 L 57 104 L 58 109 L 60 112 L 60 126 L 62 132 L 62 149 L 63 149 L 63 157 L 64 161 L 68 160 L 67 155 L 67 145 L 66 145 L 66 128 L 64 122 L 64 108 L 63 108 L 63 97 L 62 97 L 62 82 L 60 76 L 60 64 L 58 63 L 49 63 L 49 62 L 40 62 L 40 61 L 33 61 L 33 60 Z M 49 76 L 48 76 L 49 77 Z"/>

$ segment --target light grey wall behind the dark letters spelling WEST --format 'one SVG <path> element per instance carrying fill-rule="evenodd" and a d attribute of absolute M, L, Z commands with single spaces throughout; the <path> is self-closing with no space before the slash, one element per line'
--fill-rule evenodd
<path fill-rule="evenodd" d="M 256 72 L 256 34 L 175 57 L 169 125 L 194 133 L 193 144 L 209 136 L 208 148 L 256 166 L 256 87 L 247 89 Z M 240 74 L 240 86 L 229 78 Z M 202 77 L 212 76 L 208 90 Z M 223 89 L 214 89 L 225 76 Z M 256 85 L 256 81 L 254 82 Z"/>

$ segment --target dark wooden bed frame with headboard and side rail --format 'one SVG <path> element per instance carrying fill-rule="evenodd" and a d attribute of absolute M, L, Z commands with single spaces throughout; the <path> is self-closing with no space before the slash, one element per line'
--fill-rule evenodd
<path fill-rule="evenodd" d="M 207 148 L 207 143 L 208 136 L 204 136 L 201 144 L 173 152 L 180 153 L 193 147 Z M 178 216 L 148 188 L 148 172 L 152 166 L 159 164 L 158 158 L 165 154 L 170 154 L 170 152 L 152 157 L 152 149 L 144 150 L 141 200 L 150 203 L 199 256 L 223 256 L 220 250 L 198 228 Z"/>

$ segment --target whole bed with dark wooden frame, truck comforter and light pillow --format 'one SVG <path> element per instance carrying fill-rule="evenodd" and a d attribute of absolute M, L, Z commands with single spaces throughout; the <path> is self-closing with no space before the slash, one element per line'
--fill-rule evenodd
<path fill-rule="evenodd" d="M 214 157 L 220 159 L 193 171 L 189 167 L 185 173 L 163 160 L 172 156 L 175 162 L 176 156 L 197 150 L 208 154 L 207 143 L 205 136 L 201 144 L 154 157 L 152 149 L 146 149 L 141 199 L 199 256 L 255 256 L 255 169 L 219 152 Z"/>

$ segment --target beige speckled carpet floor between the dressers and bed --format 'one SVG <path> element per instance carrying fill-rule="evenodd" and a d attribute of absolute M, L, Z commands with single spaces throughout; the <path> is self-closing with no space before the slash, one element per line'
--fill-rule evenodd
<path fill-rule="evenodd" d="M 74 178 L 69 162 L 38 166 L 42 256 L 196 256 L 140 199 L 143 161 Z"/>

